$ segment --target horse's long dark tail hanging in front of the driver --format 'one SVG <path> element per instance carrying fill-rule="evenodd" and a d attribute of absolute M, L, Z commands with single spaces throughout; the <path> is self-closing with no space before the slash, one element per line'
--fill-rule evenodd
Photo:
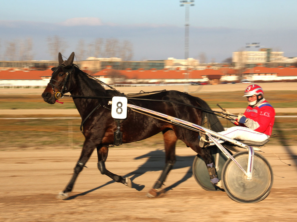
<path fill-rule="evenodd" d="M 203 115 L 202 115 L 202 124 L 207 124 L 207 127 L 205 128 L 210 128 L 212 131 L 215 132 L 221 132 L 224 131 L 224 127 L 222 123 L 219 121 L 219 118 L 215 113 L 212 112 L 211 108 L 208 106 L 208 104 L 203 100 L 198 97 L 196 97 L 199 101 L 198 103 L 200 104 L 201 108 L 203 108 Z M 209 110 L 209 112 L 207 111 Z M 238 149 L 236 149 L 233 146 L 230 145 L 224 145 L 225 148 L 238 152 Z"/>

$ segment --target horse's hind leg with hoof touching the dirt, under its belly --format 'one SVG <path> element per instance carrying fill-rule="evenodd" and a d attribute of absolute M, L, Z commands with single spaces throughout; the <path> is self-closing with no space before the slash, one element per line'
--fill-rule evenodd
<path fill-rule="evenodd" d="M 164 146 L 165 146 L 165 166 L 163 168 L 163 171 L 159 177 L 159 179 L 155 182 L 153 188 L 150 189 L 150 191 L 146 194 L 147 197 L 157 197 L 160 193 L 159 190 L 161 186 L 163 185 L 164 181 L 167 178 L 168 173 L 173 168 L 173 165 L 175 164 L 175 144 L 177 141 L 177 137 L 173 130 L 168 129 L 163 131 L 163 137 L 164 137 Z"/>

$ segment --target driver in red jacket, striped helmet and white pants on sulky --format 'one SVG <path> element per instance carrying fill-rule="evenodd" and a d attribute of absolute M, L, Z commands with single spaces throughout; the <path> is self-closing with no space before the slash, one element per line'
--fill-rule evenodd
<path fill-rule="evenodd" d="M 244 114 L 239 113 L 238 126 L 225 128 L 225 131 L 218 132 L 231 139 L 249 140 L 263 142 L 271 136 L 274 125 L 274 108 L 264 98 L 263 89 L 256 84 L 248 86 L 244 91 L 249 106 Z M 219 143 L 224 141 L 218 140 Z"/>

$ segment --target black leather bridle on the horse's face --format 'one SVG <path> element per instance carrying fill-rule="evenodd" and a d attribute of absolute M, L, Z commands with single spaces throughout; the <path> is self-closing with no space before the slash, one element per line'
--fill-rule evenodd
<path fill-rule="evenodd" d="M 58 73 L 58 70 L 60 70 L 60 68 L 63 70 L 63 72 L 66 75 L 63 82 L 53 79 L 54 75 Z M 65 90 L 67 90 L 66 83 L 69 79 L 70 74 L 73 73 L 75 70 L 74 66 L 73 65 L 65 66 L 64 64 L 60 64 L 58 67 L 53 67 L 51 70 L 53 71 L 53 74 L 52 74 L 52 78 L 50 78 L 50 82 L 48 84 L 52 87 L 56 99 L 63 98 Z M 54 84 L 54 82 L 57 85 Z M 58 92 L 55 91 L 55 87 L 59 90 Z"/>

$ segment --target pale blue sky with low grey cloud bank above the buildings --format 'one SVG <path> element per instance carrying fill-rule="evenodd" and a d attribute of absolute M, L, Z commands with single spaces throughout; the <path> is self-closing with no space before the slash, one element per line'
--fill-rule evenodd
<path fill-rule="evenodd" d="M 47 38 L 67 42 L 117 38 L 133 44 L 133 60 L 184 58 L 185 8 L 179 0 L 0 0 L 0 59 L 9 41 L 33 39 L 34 59 L 51 59 Z M 189 13 L 189 57 L 221 62 L 248 42 L 297 57 L 296 0 L 195 0 Z"/>

